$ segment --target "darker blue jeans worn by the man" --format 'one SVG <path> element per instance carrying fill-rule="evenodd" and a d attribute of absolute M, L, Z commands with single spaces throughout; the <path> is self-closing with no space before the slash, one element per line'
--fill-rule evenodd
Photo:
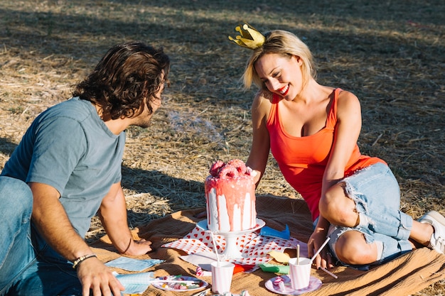
<path fill-rule="evenodd" d="M 34 229 L 32 207 L 25 182 L 0 176 L 0 296 L 82 295 L 71 263 Z"/>

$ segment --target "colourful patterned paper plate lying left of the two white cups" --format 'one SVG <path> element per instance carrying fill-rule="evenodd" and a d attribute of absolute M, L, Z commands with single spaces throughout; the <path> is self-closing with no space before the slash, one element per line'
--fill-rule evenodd
<path fill-rule="evenodd" d="M 161 280 L 169 280 L 171 281 L 171 283 L 163 283 L 161 282 Z M 192 281 L 196 283 L 181 283 L 187 281 Z M 178 277 L 178 275 L 171 275 L 168 277 L 156 278 L 156 280 L 154 280 L 151 283 L 151 285 L 161 290 L 188 292 L 188 291 L 201 290 L 207 287 L 208 283 L 205 282 L 205 280 L 200 280 L 199 278 L 193 278 L 191 276 Z"/>

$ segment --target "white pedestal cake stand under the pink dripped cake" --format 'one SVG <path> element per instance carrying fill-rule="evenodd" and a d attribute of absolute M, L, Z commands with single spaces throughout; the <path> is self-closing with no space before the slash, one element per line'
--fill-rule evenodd
<path fill-rule="evenodd" d="M 225 249 L 223 251 L 223 256 L 226 259 L 240 259 L 242 258 L 242 253 L 237 248 L 237 239 L 238 236 L 242 234 L 249 234 L 250 232 L 256 231 L 262 226 L 266 224 L 266 222 L 262 221 L 262 219 L 256 219 L 257 225 L 254 226 L 252 229 L 247 230 L 241 230 L 241 231 L 219 231 L 214 232 L 214 234 L 220 234 L 224 236 L 225 239 Z M 203 229 L 204 231 L 210 231 L 207 226 L 207 219 L 199 221 L 198 224 L 196 224 L 200 229 Z M 216 246 L 215 246 L 216 248 Z"/>

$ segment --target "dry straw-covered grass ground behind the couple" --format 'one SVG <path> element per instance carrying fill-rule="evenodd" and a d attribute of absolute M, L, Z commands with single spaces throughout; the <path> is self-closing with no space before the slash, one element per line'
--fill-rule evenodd
<path fill-rule="evenodd" d="M 210 163 L 250 150 L 254 90 L 239 81 L 249 51 L 227 39 L 248 21 L 299 35 L 318 80 L 358 95 L 360 148 L 390 164 L 404 212 L 445 214 L 444 14 L 441 0 L 3 0 L 0 169 L 36 115 L 68 99 L 109 47 L 144 40 L 171 56 L 172 84 L 153 126 L 128 131 L 129 221 L 203 206 Z M 257 192 L 299 198 L 272 158 Z M 89 239 L 101 234 L 93 221 Z M 445 295 L 445 283 L 417 295 Z"/>

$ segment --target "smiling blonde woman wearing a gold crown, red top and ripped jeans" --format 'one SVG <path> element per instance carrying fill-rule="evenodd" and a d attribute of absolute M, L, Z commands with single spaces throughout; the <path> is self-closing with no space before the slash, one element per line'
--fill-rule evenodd
<path fill-rule="evenodd" d="M 264 173 L 269 150 L 287 182 L 305 199 L 314 231 L 309 256 L 330 237 L 315 264 L 368 268 L 417 246 L 445 251 L 445 218 L 419 221 L 400 212 L 397 180 L 384 160 L 361 155 L 360 102 L 315 80 L 312 55 L 296 35 L 262 35 L 247 24 L 230 40 L 253 50 L 243 80 L 259 92 L 252 104 L 253 139 L 247 165 Z"/>

